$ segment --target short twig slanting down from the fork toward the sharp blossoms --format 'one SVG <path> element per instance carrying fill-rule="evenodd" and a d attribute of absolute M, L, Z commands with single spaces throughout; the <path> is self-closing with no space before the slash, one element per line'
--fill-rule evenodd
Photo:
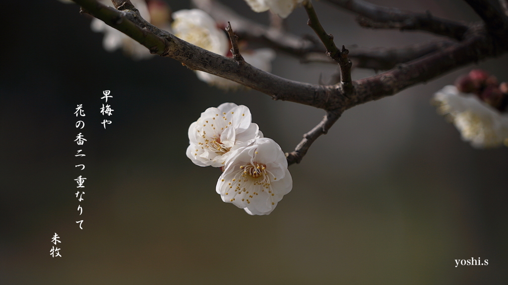
<path fill-rule="evenodd" d="M 296 146 L 295 150 L 285 154 L 286 158 L 288 159 L 288 165 L 293 163 L 300 163 L 312 143 L 322 134 L 326 134 L 328 130 L 333 126 L 333 124 L 335 124 L 335 122 L 339 119 L 341 114 L 342 110 L 326 112 L 323 120 L 308 133 L 303 135 L 302 141 L 300 141 L 300 144 Z"/>

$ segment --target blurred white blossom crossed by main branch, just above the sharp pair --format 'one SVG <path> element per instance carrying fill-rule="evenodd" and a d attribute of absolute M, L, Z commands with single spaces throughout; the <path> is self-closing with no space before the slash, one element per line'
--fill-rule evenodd
<path fill-rule="evenodd" d="M 275 59 L 275 51 L 270 48 L 263 49 L 255 49 L 255 50 L 243 50 L 240 52 L 243 56 L 245 62 L 250 65 L 257 67 L 263 71 L 271 72 L 272 70 L 272 60 Z M 198 71 L 196 72 L 199 79 L 212 86 L 216 86 L 225 90 L 234 90 L 238 88 L 244 87 L 243 85 L 231 81 L 229 79 L 225 79 L 222 77 L 218 77 L 206 72 Z"/>

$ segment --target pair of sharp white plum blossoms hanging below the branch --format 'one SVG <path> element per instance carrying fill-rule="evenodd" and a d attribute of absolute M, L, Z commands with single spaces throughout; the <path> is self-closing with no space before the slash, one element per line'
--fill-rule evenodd
<path fill-rule="evenodd" d="M 224 202 L 250 215 L 268 215 L 293 188 L 279 145 L 263 137 L 244 105 L 208 108 L 190 124 L 187 157 L 199 166 L 221 167 L 215 190 Z"/>

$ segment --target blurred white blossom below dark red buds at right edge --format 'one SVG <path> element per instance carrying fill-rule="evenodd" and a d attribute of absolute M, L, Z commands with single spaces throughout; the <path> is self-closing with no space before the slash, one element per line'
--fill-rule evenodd
<path fill-rule="evenodd" d="M 484 103 L 474 94 L 461 93 L 453 85 L 434 94 L 438 112 L 448 115 L 460 131 L 462 139 L 475 148 L 508 146 L 508 114 Z"/>

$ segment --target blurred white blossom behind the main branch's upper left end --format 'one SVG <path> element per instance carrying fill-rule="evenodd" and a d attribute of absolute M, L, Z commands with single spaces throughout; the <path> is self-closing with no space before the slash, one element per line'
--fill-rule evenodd
<path fill-rule="evenodd" d="M 109 0 L 99 0 L 104 5 L 111 5 L 111 1 Z M 153 3 L 151 3 L 153 2 Z M 139 10 L 139 13 L 141 14 L 141 17 L 145 19 L 147 22 L 152 23 L 150 11 L 148 9 L 148 6 L 145 2 L 145 0 L 131 0 L 131 3 Z M 169 8 L 166 5 L 165 7 L 162 7 L 160 5 L 163 2 L 160 1 L 154 1 L 150 0 L 149 4 L 155 4 L 152 5 L 152 11 L 156 16 L 157 23 L 152 23 L 156 25 L 159 28 L 169 30 L 169 23 L 163 23 L 160 21 L 160 19 L 163 18 L 161 14 L 167 13 L 167 19 L 169 21 Z M 163 3 L 164 4 L 164 3 Z M 159 9 L 153 9 L 153 8 L 159 8 Z M 150 54 L 150 51 L 141 45 L 140 43 L 136 42 L 132 38 L 130 38 L 128 35 L 124 34 L 123 32 L 108 26 L 106 23 L 104 23 L 102 20 L 99 20 L 97 18 L 93 18 L 91 22 L 91 29 L 95 32 L 103 32 L 104 33 L 104 39 L 103 39 L 103 47 L 105 50 L 109 52 L 113 52 L 119 48 L 121 48 L 126 54 L 131 56 L 133 59 L 139 60 L 139 59 L 146 59 L 152 56 Z"/>

